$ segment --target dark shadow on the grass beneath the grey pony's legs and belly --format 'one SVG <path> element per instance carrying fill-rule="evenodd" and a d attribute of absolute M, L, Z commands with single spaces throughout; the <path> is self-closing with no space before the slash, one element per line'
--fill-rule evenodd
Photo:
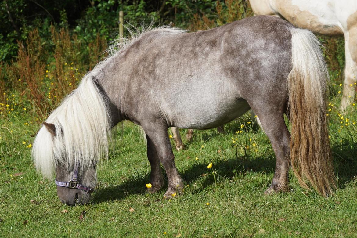
<path fill-rule="evenodd" d="M 246 158 L 233 158 L 225 161 L 215 162 L 214 169 L 216 171 L 216 178 L 220 180 L 228 179 L 231 180 L 235 176 L 244 177 L 247 173 L 263 173 L 263 172 L 273 172 L 275 168 L 275 158 L 255 158 L 246 156 Z M 164 178 L 166 177 L 164 169 Z M 192 183 L 198 179 L 202 178 L 202 174 L 207 174 L 204 176 L 202 186 L 196 191 L 191 191 L 193 194 L 198 193 L 204 188 L 210 186 L 214 183 L 212 174 L 210 174 L 210 169 L 207 169 L 207 164 L 195 163 L 189 169 L 181 172 L 180 175 L 184 182 Z M 125 182 L 118 184 L 116 186 L 102 187 L 93 194 L 93 203 L 101 203 L 113 200 L 121 200 L 130 194 L 142 194 L 146 193 L 143 189 L 144 181 L 149 181 L 149 174 L 145 176 L 136 176 L 134 178 L 127 179 Z M 267 184 L 268 187 L 269 184 Z M 165 181 L 163 188 L 160 190 L 164 192 L 167 188 L 167 181 Z"/>

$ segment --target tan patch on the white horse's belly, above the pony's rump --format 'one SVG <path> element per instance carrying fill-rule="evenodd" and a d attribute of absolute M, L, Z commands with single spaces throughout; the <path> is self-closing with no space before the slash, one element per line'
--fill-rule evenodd
<path fill-rule="evenodd" d="M 309 29 L 322 35 L 342 35 L 343 31 L 337 25 L 326 25 L 320 22 L 317 16 L 310 11 L 301 11 L 292 1 L 276 0 L 279 13 L 293 25 Z"/>

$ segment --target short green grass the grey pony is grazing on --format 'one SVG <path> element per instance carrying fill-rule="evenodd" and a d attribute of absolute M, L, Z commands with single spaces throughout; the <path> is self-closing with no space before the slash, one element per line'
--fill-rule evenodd
<path fill-rule="evenodd" d="M 351 107 L 347 126 L 346 116 L 343 120 L 337 116 L 339 88 L 332 86 L 334 106 L 329 107 L 339 188 L 329 198 L 302 189 L 292 173 L 290 192 L 264 196 L 275 155 L 268 138 L 251 128 L 245 115 L 225 126 L 226 135 L 196 130 L 191 143 L 184 141 L 185 150 L 174 151 L 187 187 L 171 200 L 162 199 L 165 188 L 146 193 L 150 165 L 145 142 L 139 127 L 131 122 L 120 124 L 109 159 L 98 171 L 101 188 L 93 194 L 92 203 L 68 207 L 57 198 L 54 181 L 42 179 L 33 166 L 27 146 L 33 141 L 30 135 L 38 130 L 34 112 L 15 108 L 0 117 L 0 236 L 356 237 L 357 127 L 353 122 L 357 113 Z M 242 124 L 244 132 L 235 134 Z M 172 145 L 174 148 L 173 140 Z M 207 169 L 211 162 L 212 169 Z M 83 219 L 79 219 L 83 211 Z"/>

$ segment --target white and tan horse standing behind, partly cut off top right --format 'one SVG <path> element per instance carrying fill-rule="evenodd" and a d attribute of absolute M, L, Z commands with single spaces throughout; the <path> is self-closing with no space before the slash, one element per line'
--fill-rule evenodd
<path fill-rule="evenodd" d="M 318 34 L 345 36 L 345 111 L 356 92 L 357 0 L 250 0 L 250 5 L 255 15 L 278 16 Z"/>

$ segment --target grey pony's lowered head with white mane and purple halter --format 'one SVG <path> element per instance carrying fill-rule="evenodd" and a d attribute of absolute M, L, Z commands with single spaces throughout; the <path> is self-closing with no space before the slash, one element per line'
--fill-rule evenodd
<path fill-rule="evenodd" d="M 85 76 L 43 123 L 32 157 L 44 177 L 51 179 L 56 174 L 61 202 L 90 201 L 97 183 L 97 164 L 108 151 L 109 125 L 106 102 L 90 76 Z"/>

